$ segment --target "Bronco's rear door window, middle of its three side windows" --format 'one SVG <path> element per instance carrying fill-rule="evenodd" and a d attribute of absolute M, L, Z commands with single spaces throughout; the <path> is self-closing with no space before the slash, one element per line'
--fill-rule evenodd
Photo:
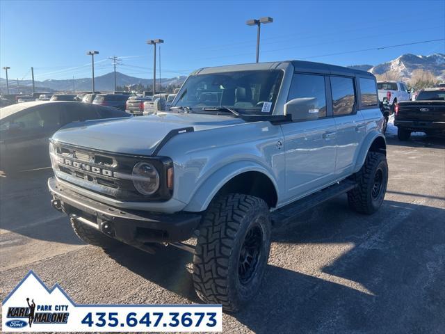
<path fill-rule="evenodd" d="M 330 80 L 334 116 L 344 116 L 355 113 L 354 79 L 348 77 L 330 77 Z"/>

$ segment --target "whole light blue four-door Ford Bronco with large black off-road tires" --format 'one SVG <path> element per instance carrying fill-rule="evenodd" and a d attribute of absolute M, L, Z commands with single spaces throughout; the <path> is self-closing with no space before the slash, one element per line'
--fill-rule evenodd
<path fill-rule="evenodd" d="M 259 289 L 272 228 L 341 193 L 361 214 L 379 209 L 383 122 L 368 72 L 304 61 L 202 68 L 170 111 L 56 132 L 51 204 L 89 244 L 191 251 L 197 295 L 236 311 Z"/>

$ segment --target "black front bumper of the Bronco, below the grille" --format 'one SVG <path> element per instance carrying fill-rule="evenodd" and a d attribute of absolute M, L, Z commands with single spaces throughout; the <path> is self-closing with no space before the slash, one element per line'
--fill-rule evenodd
<path fill-rule="evenodd" d="M 200 214 L 162 214 L 111 207 L 67 189 L 48 179 L 55 209 L 126 244 L 177 242 L 190 239 L 201 221 Z"/>

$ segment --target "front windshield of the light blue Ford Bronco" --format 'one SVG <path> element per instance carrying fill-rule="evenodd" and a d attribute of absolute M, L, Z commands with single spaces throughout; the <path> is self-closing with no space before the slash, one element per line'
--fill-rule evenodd
<path fill-rule="evenodd" d="M 186 106 L 193 112 L 223 106 L 243 114 L 270 114 L 277 100 L 282 77 L 281 70 L 191 76 L 181 88 L 181 96 L 175 106 Z"/>

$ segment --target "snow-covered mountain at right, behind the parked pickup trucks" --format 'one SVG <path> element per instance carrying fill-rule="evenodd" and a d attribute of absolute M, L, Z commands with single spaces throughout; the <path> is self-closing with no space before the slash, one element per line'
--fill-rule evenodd
<path fill-rule="evenodd" d="M 349 66 L 358 70 L 367 70 L 373 74 L 385 74 L 395 72 L 401 79 L 408 80 L 414 70 L 426 70 L 432 72 L 437 79 L 445 79 L 445 54 L 430 54 L 429 56 L 416 56 L 415 54 L 403 54 L 387 63 L 370 65 Z"/>

